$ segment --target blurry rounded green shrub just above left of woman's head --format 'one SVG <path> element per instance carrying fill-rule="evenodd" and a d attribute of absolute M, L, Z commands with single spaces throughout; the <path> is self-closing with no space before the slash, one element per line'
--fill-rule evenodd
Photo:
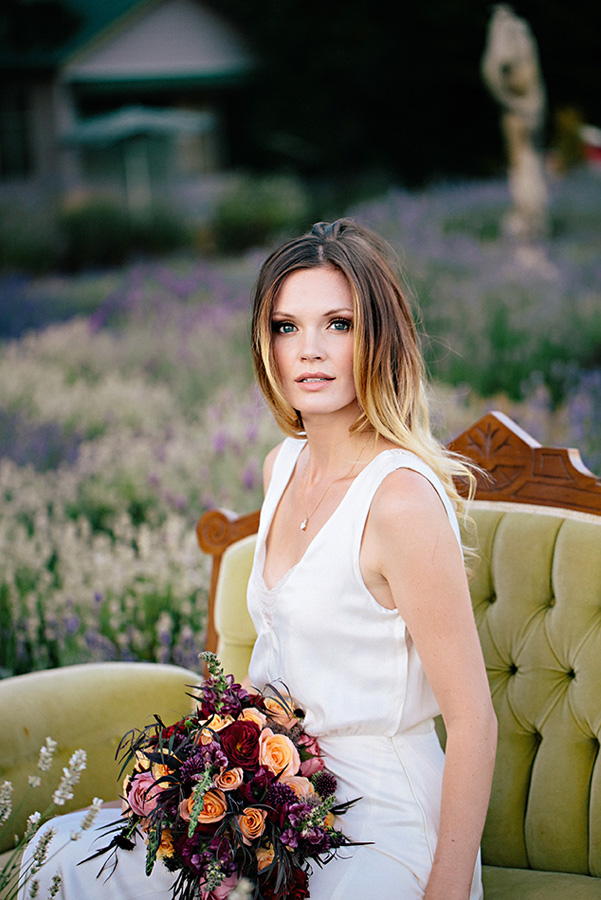
<path fill-rule="evenodd" d="M 311 204 L 296 178 L 242 176 L 218 205 L 212 229 L 218 251 L 261 247 L 310 224 Z"/>

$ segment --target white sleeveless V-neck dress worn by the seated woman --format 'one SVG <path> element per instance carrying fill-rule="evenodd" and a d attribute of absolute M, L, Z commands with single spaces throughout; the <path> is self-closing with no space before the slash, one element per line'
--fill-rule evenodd
<path fill-rule="evenodd" d="M 300 562 L 269 590 L 262 577 L 265 539 L 303 446 L 284 441 L 261 512 L 248 588 L 258 634 L 250 676 L 259 688 L 285 682 L 338 778 L 338 798 L 362 798 L 340 824 L 354 840 L 373 843 L 345 848 L 345 858 L 315 867 L 311 900 L 421 900 L 440 811 L 444 755 L 433 725 L 438 707 L 403 619 L 365 587 L 359 552 L 374 494 L 395 469 L 413 469 L 432 483 L 459 540 L 456 516 L 424 462 L 404 450 L 386 450 L 360 472 Z M 117 810 L 102 810 L 96 824 L 117 817 Z M 170 900 L 173 875 L 157 865 L 146 877 L 141 842 L 119 854 L 108 880 L 96 877 L 98 860 L 78 866 L 99 846 L 94 831 L 69 840 L 81 819 L 71 813 L 52 820 L 54 855 L 36 875 L 39 897 L 58 871 L 59 900 Z M 482 900 L 479 861 L 470 900 Z"/>

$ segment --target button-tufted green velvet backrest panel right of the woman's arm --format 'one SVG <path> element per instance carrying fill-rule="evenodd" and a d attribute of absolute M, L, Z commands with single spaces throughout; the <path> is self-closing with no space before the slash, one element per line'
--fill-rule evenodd
<path fill-rule="evenodd" d="M 601 521 L 473 515 L 472 599 L 499 719 L 483 857 L 601 877 Z"/>

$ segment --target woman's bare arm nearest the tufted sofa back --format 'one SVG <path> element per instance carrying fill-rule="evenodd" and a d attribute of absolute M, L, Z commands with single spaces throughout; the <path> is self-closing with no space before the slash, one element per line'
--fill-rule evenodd
<path fill-rule="evenodd" d="M 430 483 L 392 473 L 370 513 L 378 570 L 411 635 L 447 730 L 438 843 L 425 900 L 468 900 L 496 750 L 496 717 L 463 556 Z"/>

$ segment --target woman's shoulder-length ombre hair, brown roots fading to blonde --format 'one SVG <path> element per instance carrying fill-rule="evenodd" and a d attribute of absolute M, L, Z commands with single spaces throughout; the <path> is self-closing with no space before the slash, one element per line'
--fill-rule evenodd
<path fill-rule="evenodd" d="M 354 376 L 361 414 L 351 432 L 373 430 L 419 456 L 434 470 L 458 509 L 454 479 L 473 489 L 469 463 L 432 435 L 425 366 L 410 305 L 389 262 L 390 248 L 352 219 L 319 222 L 275 250 L 255 288 L 252 352 L 259 386 L 284 434 L 303 423 L 284 397 L 273 355 L 272 314 L 284 279 L 299 269 L 333 266 L 346 276 L 354 306 Z"/>

